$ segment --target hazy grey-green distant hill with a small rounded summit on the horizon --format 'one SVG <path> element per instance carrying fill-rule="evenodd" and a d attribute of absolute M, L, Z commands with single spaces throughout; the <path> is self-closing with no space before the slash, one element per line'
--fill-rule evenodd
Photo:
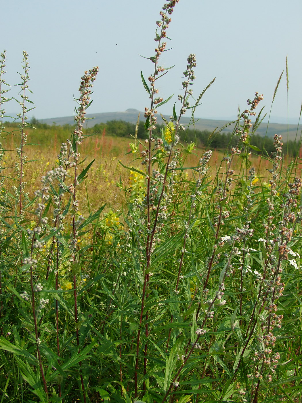
<path fill-rule="evenodd" d="M 95 113 L 95 114 L 87 114 L 87 118 L 94 118 L 91 120 L 86 120 L 85 126 L 92 127 L 97 123 L 106 123 L 108 120 L 124 120 L 130 123 L 136 123 L 138 114 L 140 113 L 140 119 L 145 120 L 144 112 L 139 112 L 137 109 L 127 109 L 125 112 L 103 112 L 103 113 Z M 168 115 L 165 115 L 165 118 L 169 120 Z M 161 118 L 158 115 L 158 122 L 160 122 Z M 74 118 L 73 116 L 64 116 L 62 118 L 50 118 L 50 119 L 39 119 L 39 122 L 46 123 L 48 125 L 56 124 L 56 125 L 73 125 Z M 182 125 L 186 126 L 190 123 L 190 118 L 183 116 L 181 119 Z M 198 130 L 209 130 L 213 131 L 217 126 L 220 129 L 224 125 L 228 123 L 227 120 L 214 120 L 214 119 L 197 119 L 195 122 L 195 128 Z M 192 128 L 192 127 L 191 127 Z M 223 132 L 228 133 L 232 132 L 234 128 L 234 124 L 226 127 Z M 267 129 L 267 123 L 262 123 L 258 130 L 257 134 L 264 136 L 267 130 L 267 135 L 269 137 L 273 137 L 275 133 L 278 135 L 282 135 L 284 140 L 286 141 L 287 136 L 289 139 L 294 140 L 296 137 L 297 126 L 296 125 L 284 125 L 280 123 L 269 123 L 269 127 Z M 298 133 L 299 135 L 299 133 Z"/>

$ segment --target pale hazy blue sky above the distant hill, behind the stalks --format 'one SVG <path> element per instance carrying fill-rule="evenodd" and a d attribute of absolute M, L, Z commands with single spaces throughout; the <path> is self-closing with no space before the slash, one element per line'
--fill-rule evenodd
<path fill-rule="evenodd" d="M 6 82 L 17 96 L 22 52 L 29 54 L 30 100 L 38 119 L 72 116 L 80 78 L 99 66 L 93 104 L 87 113 L 144 110 L 150 100 L 141 71 L 153 72 L 149 58 L 156 47 L 156 21 L 162 0 L 0 0 L 1 47 L 7 51 Z M 193 96 L 214 78 L 195 112 L 201 118 L 236 118 L 238 106 L 263 93 L 269 113 L 279 76 L 288 56 L 289 91 L 283 73 L 271 111 L 271 122 L 298 122 L 302 101 L 301 0 L 180 0 L 167 30 L 169 52 L 159 64 L 174 65 L 157 81 L 159 96 L 172 100 L 158 112 L 172 114 L 182 93 L 187 57 L 196 54 Z M 140 56 L 141 55 L 141 56 Z M 19 112 L 17 102 L 7 112 Z M 177 105 L 176 105 L 177 108 Z"/>

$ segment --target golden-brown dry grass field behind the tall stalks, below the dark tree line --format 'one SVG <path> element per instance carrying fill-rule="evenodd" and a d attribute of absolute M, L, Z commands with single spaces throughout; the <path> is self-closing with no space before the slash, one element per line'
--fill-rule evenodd
<path fill-rule="evenodd" d="M 31 185 L 29 196 L 33 197 L 33 192 L 40 186 L 41 177 L 48 170 L 52 169 L 60 149 L 62 138 L 64 138 L 64 135 L 65 138 L 67 138 L 68 132 L 62 127 L 54 127 L 46 130 L 28 128 L 27 133 L 29 143 L 39 141 L 41 144 L 41 139 L 46 139 L 38 150 L 36 146 L 31 147 L 30 145 L 26 149 L 28 162 L 25 165 L 25 178 L 27 183 Z M 31 137 L 33 137 L 33 140 L 31 140 Z M 135 160 L 139 157 L 139 154 L 129 152 L 130 141 L 133 141 L 130 137 L 112 137 L 103 134 L 87 137 L 83 143 L 82 159 L 84 160 L 89 156 L 87 160 L 83 162 L 83 168 L 87 166 L 91 160 L 95 159 L 95 162 L 88 172 L 86 188 L 81 187 L 81 189 L 79 189 L 78 197 L 83 206 L 82 214 L 87 214 L 89 209 L 91 212 L 95 212 L 103 206 L 103 204 L 106 204 L 105 211 L 108 211 L 109 208 L 118 211 L 121 209 L 121 206 L 123 206 L 125 202 L 124 192 L 116 187 L 116 183 L 122 181 L 123 187 L 128 188 L 129 172 L 120 165 L 119 161 L 129 167 L 140 166 L 140 160 Z M 3 145 L 7 150 L 3 160 L 7 168 L 5 172 L 7 177 L 14 177 L 14 163 L 17 162 L 15 151 L 16 143 L 17 136 L 13 133 L 8 135 L 3 141 Z M 140 152 L 143 149 L 143 145 L 140 144 L 138 148 Z M 185 165 L 188 167 L 196 166 L 200 156 L 205 151 L 205 149 L 199 148 L 194 150 L 192 154 L 188 154 Z M 213 150 L 209 172 L 211 178 L 216 179 L 222 177 L 225 173 L 225 164 L 222 162 L 224 155 L 225 153 L 220 150 Z M 254 166 L 256 170 L 256 175 L 260 179 L 259 183 L 265 183 L 267 170 L 271 167 L 271 160 L 262 156 L 250 155 L 249 161 L 250 166 Z M 285 158 L 284 165 L 288 166 L 290 162 L 290 160 L 287 161 Z M 250 167 L 244 168 L 244 166 L 245 164 L 242 164 L 242 159 L 238 158 L 234 166 L 235 177 L 238 179 L 248 176 Z M 302 164 L 300 162 L 300 164 L 296 165 L 293 176 L 300 176 L 301 168 Z M 192 170 L 188 170 L 188 179 L 190 179 L 191 176 Z M 8 185 L 8 181 L 9 179 L 6 181 L 6 186 L 9 191 L 10 185 Z M 87 203 L 87 194 L 89 195 L 89 204 Z"/>

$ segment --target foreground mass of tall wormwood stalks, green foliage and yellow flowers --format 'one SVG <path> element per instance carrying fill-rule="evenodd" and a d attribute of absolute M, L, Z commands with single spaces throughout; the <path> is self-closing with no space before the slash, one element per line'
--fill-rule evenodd
<path fill-rule="evenodd" d="M 302 401 L 299 161 L 285 166 L 276 134 L 263 157 L 267 177 L 250 165 L 262 120 L 256 92 L 217 172 L 211 150 L 186 167 L 194 144 L 182 145 L 181 117 L 192 112 L 194 121 L 214 80 L 193 96 L 190 54 L 172 116 L 159 117 L 173 97 L 161 98 L 157 80 L 169 69 L 159 60 L 176 3 L 160 12 L 154 69 L 141 74 L 146 140 L 137 139 L 138 123 L 120 211 L 91 211 L 87 192 L 85 218 L 78 197 L 93 164 L 79 146 L 97 68 L 81 78 L 70 139 L 41 187 L 27 187 L 23 53 L 19 164 L 1 166 L 0 177 L 1 402 Z M 1 160 L 9 152 L 1 147 Z"/>

